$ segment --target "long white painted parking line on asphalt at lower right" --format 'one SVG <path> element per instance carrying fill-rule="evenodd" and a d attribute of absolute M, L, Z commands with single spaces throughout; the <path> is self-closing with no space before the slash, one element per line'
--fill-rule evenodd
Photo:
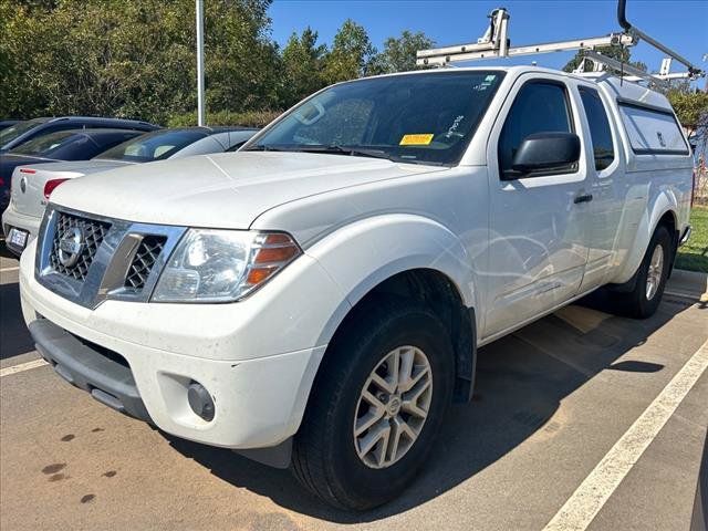
<path fill-rule="evenodd" d="M 708 342 L 686 362 L 669 384 L 627 429 L 577 487 L 544 531 L 583 531 L 620 486 L 708 367 Z"/>

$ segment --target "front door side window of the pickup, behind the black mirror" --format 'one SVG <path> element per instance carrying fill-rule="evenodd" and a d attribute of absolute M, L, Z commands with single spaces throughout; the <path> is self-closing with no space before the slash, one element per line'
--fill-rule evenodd
<path fill-rule="evenodd" d="M 527 136 L 551 132 L 573 132 L 565 87 L 552 82 L 527 83 L 517 94 L 499 136 L 499 174 L 514 174 L 513 157 Z"/>

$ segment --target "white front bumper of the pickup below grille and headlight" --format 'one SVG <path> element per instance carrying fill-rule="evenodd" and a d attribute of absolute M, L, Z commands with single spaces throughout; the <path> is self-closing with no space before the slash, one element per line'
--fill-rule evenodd
<path fill-rule="evenodd" d="M 313 329 L 311 321 L 322 315 L 302 312 L 302 302 L 320 299 L 330 319 L 339 298 L 322 285 L 316 261 L 293 262 L 236 304 L 105 301 L 91 310 L 37 282 L 34 252 L 32 242 L 20 260 L 22 311 L 38 350 L 65 379 L 166 433 L 211 446 L 270 448 L 296 433 L 326 348 L 316 342 L 322 322 Z M 313 295 L 311 274 L 326 296 Z M 258 317 L 256 323 L 249 315 Z M 317 346 L 281 348 L 303 342 Z M 101 360 L 103 351 L 117 354 L 127 367 Z M 216 404 L 210 421 L 189 406 L 192 382 L 205 386 Z"/>

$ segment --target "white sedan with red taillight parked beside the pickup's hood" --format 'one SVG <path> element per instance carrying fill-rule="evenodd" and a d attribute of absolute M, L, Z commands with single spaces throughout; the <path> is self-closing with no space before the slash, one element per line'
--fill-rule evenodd
<path fill-rule="evenodd" d="M 2 229 L 6 235 L 12 228 L 29 235 L 23 238 L 25 241 L 34 238 L 50 192 L 65 180 L 133 164 L 237 149 L 257 131 L 248 127 L 159 129 L 131 138 L 91 160 L 17 167 L 11 179 L 11 201 L 2 214 Z M 22 252 L 22 247 L 8 248 L 15 254 Z"/>

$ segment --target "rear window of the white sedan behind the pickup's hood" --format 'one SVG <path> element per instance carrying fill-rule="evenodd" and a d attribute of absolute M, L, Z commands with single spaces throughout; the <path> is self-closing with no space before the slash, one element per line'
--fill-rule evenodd
<path fill-rule="evenodd" d="M 204 131 L 156 131 L 118 144 L 94 158 L 133 163 L 162 160 L 206 136 Z"/>

